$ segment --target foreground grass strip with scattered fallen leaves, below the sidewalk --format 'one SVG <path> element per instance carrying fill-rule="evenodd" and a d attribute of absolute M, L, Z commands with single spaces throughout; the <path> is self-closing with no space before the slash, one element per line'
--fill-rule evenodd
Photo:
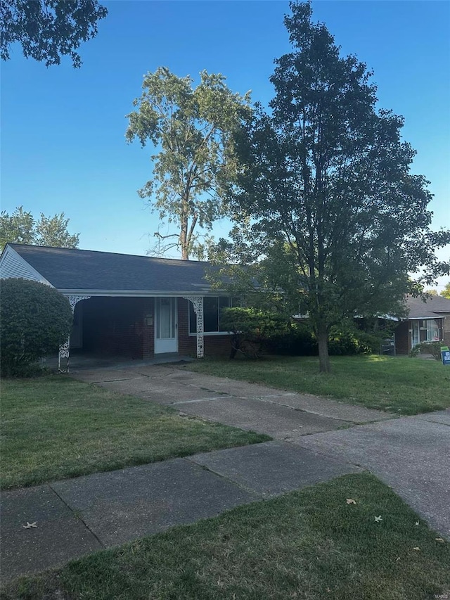
<path fill-rule="evenodd" d="M 362 473 L 20 578 L 2 598 L 425 600 L 448 597 L 449 565 L 450 544 Z"/>

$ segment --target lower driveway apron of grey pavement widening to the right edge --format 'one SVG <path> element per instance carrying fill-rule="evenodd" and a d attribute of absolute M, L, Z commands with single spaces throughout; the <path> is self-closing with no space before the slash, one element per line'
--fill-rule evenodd
<path fill-rule="evenodd" d="M 450 410 L 307 435 L 295 444 L 372 471 L 450 539 Z"/>

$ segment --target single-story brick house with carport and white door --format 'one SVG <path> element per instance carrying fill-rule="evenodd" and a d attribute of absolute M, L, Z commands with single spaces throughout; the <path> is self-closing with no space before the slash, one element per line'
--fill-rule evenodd
<path fill-rule="evenodd" d="M 74 310 L 70 349 L 148 359 L 229 351 L 220 309 L 231 298 L 205 280 L 210 264 L 9 243 L 0 276 L 33 279 L 67 296 Z"/>

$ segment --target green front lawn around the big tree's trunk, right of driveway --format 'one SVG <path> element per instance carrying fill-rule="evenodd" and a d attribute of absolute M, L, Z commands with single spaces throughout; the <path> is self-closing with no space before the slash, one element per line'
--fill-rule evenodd
<path fill-rule="evenodd" d="M 317 357 L 266 357 L 259 361 L 205 359 L 186 369 L 264 383 L 396 414 L 450 407 L 450 367 L 409 357 L 330 357 L 331 374 L 319 373 Z"/>

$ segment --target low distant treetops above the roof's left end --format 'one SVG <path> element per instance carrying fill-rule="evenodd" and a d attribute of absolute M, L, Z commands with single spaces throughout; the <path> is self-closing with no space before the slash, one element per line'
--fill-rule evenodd
<path fill-rule="evenodd" d="M 4 210 L 0 216 L 0 252 L 8 242 L 77 248 L 79 234 L 69 233 L 69 221 L 64 212 L 53 217 L 46 217 L 41 212 L 36 220 L 22 206 L 16 208 L 12 215 Z"/>

